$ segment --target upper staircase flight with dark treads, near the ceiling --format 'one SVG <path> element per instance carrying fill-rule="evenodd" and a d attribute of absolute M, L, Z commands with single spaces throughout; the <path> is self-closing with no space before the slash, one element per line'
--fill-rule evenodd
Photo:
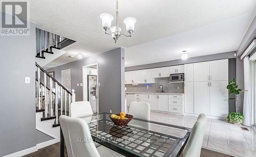
<path fill-rule="evenodd" d="M 76 41 L 36 28 L 36 62 L 44 67 L 54 59 L 66 53 L 61 49 Z"/>

